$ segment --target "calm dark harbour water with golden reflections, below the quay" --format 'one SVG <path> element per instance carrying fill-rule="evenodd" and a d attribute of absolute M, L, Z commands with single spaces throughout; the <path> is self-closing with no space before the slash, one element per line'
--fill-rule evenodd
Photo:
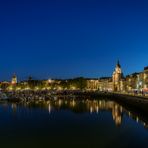
<path fill-rule="evenodd" d="M 3 148 L 148 147 L 147 120 L 107 100 L 0 104 Z"/>

